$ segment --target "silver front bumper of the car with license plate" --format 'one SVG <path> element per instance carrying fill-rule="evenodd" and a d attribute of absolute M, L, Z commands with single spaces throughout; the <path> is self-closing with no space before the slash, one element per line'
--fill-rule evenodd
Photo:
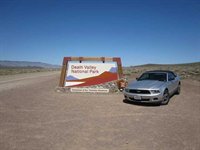
<path fill-rule="evenodd" d="M 163 94 L 135 94 L 124 91 L 124 98 L 132 102 L 160 103 L 163 100 Z"/>

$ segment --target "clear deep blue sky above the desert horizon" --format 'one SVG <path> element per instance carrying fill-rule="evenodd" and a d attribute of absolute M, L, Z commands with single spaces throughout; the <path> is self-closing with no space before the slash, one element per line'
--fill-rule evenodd
<path fill-rule="evenodd" d="M 0 0 L 0 60 L 200 61 L 199 0 Z"/>

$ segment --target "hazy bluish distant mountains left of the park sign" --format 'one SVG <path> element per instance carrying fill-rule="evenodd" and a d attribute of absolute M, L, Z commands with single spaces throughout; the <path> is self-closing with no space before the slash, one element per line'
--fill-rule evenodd
<path fill-rule="evenodd" d="M 29 61 L 7 61 L 7 60 L 0 60 L 0 68 L 7 68 L 7 67 L 38 67 L 38 68 L 60 68 L 59 65 L 52 65 L 42 62 L 29 62 Z"/>

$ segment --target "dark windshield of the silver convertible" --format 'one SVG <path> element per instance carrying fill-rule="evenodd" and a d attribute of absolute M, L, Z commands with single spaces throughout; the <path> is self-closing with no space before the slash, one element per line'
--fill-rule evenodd
<path fill-rule="evenodd" d="M 156 72 L 148 72 L 143 73 L 138 81 L 142 80 L 157 80 L 157 81 L 167 81 L 167 74 L 166 73 L 156 73 Z"/>

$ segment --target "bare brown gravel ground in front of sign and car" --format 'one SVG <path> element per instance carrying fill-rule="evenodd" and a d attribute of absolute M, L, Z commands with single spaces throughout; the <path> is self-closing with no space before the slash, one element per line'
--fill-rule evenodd
<path fill-rule="evenodd" d="M 199 150 L 200 82 L 182 81 L 168 105 L 122 93 L 59 93 L 60 72 L 0 77 L 1 150 Z"/>

